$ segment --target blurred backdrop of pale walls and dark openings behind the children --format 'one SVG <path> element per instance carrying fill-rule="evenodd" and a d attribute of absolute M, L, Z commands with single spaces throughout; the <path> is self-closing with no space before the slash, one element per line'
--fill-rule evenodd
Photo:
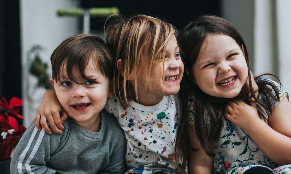
<path fill-rule="evenodd" d="M 291 1 L 212 0 L 199 1 L 0 1 L 0 97 L 23 99 L 24 126 L 31 124 L 43 93 L 50 88 L 50 55 L 66 38 L 90 32 L 104 37 L 106 17 L 60 16 L 57 10 L 116 7 L 120 14 L 147 14 L 165 19 L 178 30 L 202 14 L 215 14 L 232 22 L 251 53 L 254 75 L 277 75 L 291 91 Z M 114 11 L 114 10 L 113 10 Z"/>

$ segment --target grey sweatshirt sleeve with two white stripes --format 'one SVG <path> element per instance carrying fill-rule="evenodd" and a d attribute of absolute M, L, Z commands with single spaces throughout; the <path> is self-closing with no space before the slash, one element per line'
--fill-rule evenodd
<path fill-rule="evenodd" d="M 38 131 L 33 121 L 16 146 L 10 163 L 10 172 L 56 173 L 55 170 L 47 168 L 46 163 L 56 150 L 60 137 L 61 135 L 56 133 L 47 134 L 43 128 Z"/>

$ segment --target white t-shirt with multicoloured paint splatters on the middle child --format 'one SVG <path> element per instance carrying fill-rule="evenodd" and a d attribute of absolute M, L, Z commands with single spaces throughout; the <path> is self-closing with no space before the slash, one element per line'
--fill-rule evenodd
<path fill-rule="evenodd" d="M 178 95 L 165 96 L 154 106 L 132 102 L 127 108 L 118 98 L 110 98 L 105 108 L 125 131 L 125 158 L 130 168 L 126 173 L 177 172 L 174 144 L 180 119 Z"/>

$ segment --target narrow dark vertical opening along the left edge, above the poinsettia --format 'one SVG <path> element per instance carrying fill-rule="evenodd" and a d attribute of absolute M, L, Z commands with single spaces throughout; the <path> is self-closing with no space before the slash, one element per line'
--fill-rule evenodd
<path fill-rule="evenodd" d="M 19 1 L 0 1 L 0 97 L 22 98 Z"/>

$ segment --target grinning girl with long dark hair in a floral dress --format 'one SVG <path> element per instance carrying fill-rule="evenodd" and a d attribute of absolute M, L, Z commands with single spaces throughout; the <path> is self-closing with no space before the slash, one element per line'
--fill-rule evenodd
<path fill-rule="evenodd" d="M 193 125 L 187 126 L 189 173 L 256 173 L 256 165 L 265 173 L 291 173 L 291 165 L 279 167 L 291 163 L 288 94 L 275 81 L 257 77 L 258 97 L 249 80 L 256 104 L 239 96 L 251 73 L 237 29 L 206 15 L 190 22 L 179 41 L 195 96 Z"/>

